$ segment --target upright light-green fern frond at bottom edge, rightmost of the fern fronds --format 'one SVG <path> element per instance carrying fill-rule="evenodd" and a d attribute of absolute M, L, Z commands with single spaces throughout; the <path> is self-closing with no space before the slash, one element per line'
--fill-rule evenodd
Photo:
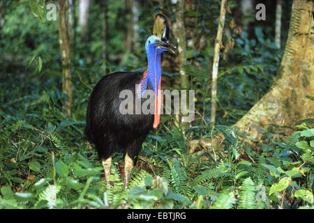
<path fill-rule="evenodd" d="M 251 177 L 248 177 L 244 180 L 244 183 L 242 183 L 240 190 L 239 208 L 256 209 L 255 197 L 255 185 L 253 180 L 251 180 Z"/>

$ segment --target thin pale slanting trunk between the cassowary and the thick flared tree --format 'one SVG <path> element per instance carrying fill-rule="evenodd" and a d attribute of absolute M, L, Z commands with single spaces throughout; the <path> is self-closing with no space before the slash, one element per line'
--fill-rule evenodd
<path fill-rule="evenodd" d="M 218 77 L 218 67 L 219 67 L 219 52 L 221 46 L 221 40 L 223 38 L 223 26 L 225 26 L 225 5 L 227 0 L 221 0 L 220 6 L 220 16 L 218 22 L 218 31 L 215 41 L 215 51 L 213 59 L 213 72 L 212 72 L 212 82 L 211 82 L 211 122 L 216 121 L 216 98 L 217 98 L 217 77 Z"/>

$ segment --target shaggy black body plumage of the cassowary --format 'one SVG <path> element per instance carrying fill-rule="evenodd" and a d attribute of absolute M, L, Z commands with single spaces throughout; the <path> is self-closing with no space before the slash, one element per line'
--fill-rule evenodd
<path fill-rule="evenodd" d="M 119 93 L 130 89 L 135 99 L 135 84 L 140 83 L 142 76 L 142 72 L 114 72 L 100 79 L 91 93 L 85 134 L 103 159 L 120 149 L 136 162 L 142 142 L 153 128 L 153 114 L 119 112 L 120 103 L 125 100 L 119 98 Z M 150 85 L 148 89 L 151 89 Z"/>

